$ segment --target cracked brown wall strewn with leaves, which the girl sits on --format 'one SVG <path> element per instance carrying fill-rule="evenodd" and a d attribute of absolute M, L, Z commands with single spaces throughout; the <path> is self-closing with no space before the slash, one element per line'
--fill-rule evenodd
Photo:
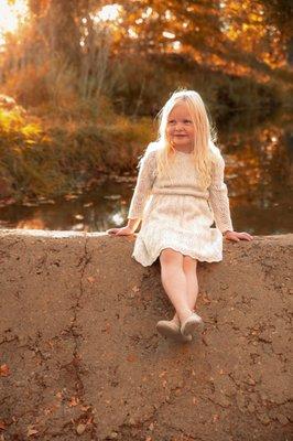
<path fill-rule="evenodd" d="M 1 230 L 0 441 L 293 440 L 293 235 L 199 263 L 192 344 L 158 335 L 172 309 L 132 247 Z"/>

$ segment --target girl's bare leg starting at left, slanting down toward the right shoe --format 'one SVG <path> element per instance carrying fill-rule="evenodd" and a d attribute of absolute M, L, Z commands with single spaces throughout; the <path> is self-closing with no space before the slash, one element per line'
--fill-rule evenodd
<path fill-rule="evenodd" d="M 184 256 L 171 248 L 160 255 L 161 278 L 169 299 L 176 310 L 181 322 L 192 314 L 192 301 L 188 301 L 187 279 L 183 270 Z M 194 302 L 193 302 L 194 305 Z"/>

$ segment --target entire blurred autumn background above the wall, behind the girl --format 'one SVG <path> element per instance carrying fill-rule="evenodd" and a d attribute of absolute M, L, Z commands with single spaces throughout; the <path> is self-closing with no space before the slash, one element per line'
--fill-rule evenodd
<path fill-rule="evenodd" d="M 291 0 L 0 0 L 0 227 L 123 225 L 155 115 L 208 106 L 235 229 L 293 230 Z"/>

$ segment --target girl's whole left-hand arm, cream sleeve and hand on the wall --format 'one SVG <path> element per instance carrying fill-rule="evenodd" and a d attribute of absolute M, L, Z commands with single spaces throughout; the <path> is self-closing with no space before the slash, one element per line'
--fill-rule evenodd
<path fill-rule="evenodd" d="M 151 194 L 151 190 L 155 180 L 155 151 L 151 151 L 145 153 L 140 162 L 138 181 L 129 207 L 127 226 L 122 228 L 110 228 L 107 230 L 108 234 L 128 236 L 135 232 L 142 219 L 146 201 Z"/>

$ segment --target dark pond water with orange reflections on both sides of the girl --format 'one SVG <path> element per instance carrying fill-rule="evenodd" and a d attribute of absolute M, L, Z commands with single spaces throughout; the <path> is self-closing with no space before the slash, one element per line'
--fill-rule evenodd
<path fill-rule="evenodd" d="M 236 230 L 293 233 L 293 135 L 289 112 L 218 123 Z M 126 223 L 135 179 L 106 179 L 84 194 L 0 208 L 0 227 L 105 232 Z"/>

